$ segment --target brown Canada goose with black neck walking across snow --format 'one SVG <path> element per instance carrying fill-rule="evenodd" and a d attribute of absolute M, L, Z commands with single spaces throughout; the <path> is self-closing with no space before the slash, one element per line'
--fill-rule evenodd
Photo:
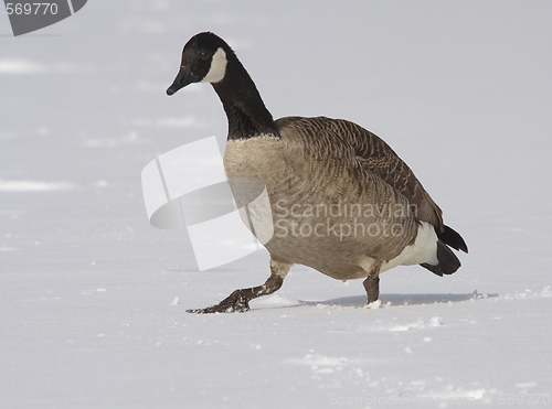
<path fill-rule="evenodd" d="M 265 245 L 270 277 L 263 286 L 189 312 L 247 311 L 252 299 L 282 287 L 294 263 L 339 280 L 364 279 L 369 303 L 378 300 L 379 275 L 399 265 L 421 265 L 437 276 L 460 267 L 448 246 L 467 252 L 466 243 L 443 224 L 440 208 L 411 169 L 375 134 L 326 117 L 274 121 L 235 53 L 210 32 L 184 45 L 167 94 L 191 83 L 211 83 L 219 95 L 229 120 L 229 183 L 234 195 L 240 177 L 266 185 L 275 235 Z"/>

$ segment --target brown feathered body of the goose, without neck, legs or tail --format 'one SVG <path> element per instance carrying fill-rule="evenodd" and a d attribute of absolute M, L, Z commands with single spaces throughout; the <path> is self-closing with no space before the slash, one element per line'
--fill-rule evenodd
<path fill-rule="evenodd" d="M 240 179 L 266 185 L 274 236 L 265 246 L 274 259 L 340 280 L 365 278 L 367 265 L 394 267 L 390 261 L 415 245 L 421 222 L 442 226 L 440 209 L 375 134 L 325 117 L 276 125 L 280 138 L 230 140 L 224 155 L 235 196 L 244 194 Z"/>

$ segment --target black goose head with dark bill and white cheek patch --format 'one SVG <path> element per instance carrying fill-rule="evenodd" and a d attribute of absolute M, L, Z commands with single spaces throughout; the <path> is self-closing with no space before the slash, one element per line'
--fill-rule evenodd
<path fill-rule="evenodd" d="M 167 94 L 172 95 L 192 83 L 221 82 L 230 55 L 233 51 L 220 36 L 210 32 L 195 34 L 184 45 L 180 71 Z"/>

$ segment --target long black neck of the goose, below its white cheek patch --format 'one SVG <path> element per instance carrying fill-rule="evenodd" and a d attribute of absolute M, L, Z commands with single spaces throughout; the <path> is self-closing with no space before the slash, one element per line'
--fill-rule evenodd
<path fill-rule="evenodd" d="M 229 119 L 229 140 L 258 136 L 279 138 L 273 116 L 250 74 L 234 54 L 227 55 L 227 60 L 224 78 L 212 85 Z"/>

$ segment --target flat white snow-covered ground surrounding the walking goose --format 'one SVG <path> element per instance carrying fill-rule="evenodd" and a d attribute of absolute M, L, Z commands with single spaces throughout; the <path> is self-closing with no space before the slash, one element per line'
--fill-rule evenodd
<path fill-rule="evenodd" d="M 0 408 L 552 406 L 550 1 L 91 0 L 21 37 L 0 11 Z M 438 278 L 200 272 L 148 223 L 141 169 L 226 121 L 164 95 L 182 45 L 231 43 L 268 109 L 353 120 L 414 169 L 470 254 Z M 532 405 L 534 403 L 534 405 Z"/>

